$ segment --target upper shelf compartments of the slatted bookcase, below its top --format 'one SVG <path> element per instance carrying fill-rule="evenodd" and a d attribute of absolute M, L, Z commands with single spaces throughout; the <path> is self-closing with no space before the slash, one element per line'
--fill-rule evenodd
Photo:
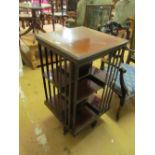
<path fill-rule="evenodd" d="M 49 74 L 49 75 L 48 75 Z M 69 77 L 69 74 L 71 74 L 71 77 Z M 73 81 L 74 79 L 74 68 L 72 70 L 70 69 L 70 65 L 67 64 L 66 67 L 62 65 L 62 68 L 57 67 L 57 69 L 53 70 L 53 73 L 51 70 L 48 72 L 45 72 L 44 75 L 47 79 L 49 79 L 54 85 L 62 87 L 69 84 L 70 81 Z M 90 78 L 97 82 L 100 85 L 103 85 L 103 79 L 106 77 L 106 73 L 101 71 L 100 69 L 91 66 L 91 64 L 86 64 L 79 69 L 79 80 L 86 78 L 90 76 Z M 102 83 L 100 82 L 102 79 Z"/>

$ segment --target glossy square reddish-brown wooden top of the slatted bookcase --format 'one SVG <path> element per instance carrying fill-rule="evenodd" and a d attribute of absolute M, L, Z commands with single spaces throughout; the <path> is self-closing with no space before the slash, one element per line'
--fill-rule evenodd
<path fill-rule="evenodd" d="M 37 40 L 58 49 L 74 60 L 82 60 L 118 46 L 128 41 L 114 37 L 87 27 L 64 28 L 61 31 L 40 33 L 36 35 Z"/>

